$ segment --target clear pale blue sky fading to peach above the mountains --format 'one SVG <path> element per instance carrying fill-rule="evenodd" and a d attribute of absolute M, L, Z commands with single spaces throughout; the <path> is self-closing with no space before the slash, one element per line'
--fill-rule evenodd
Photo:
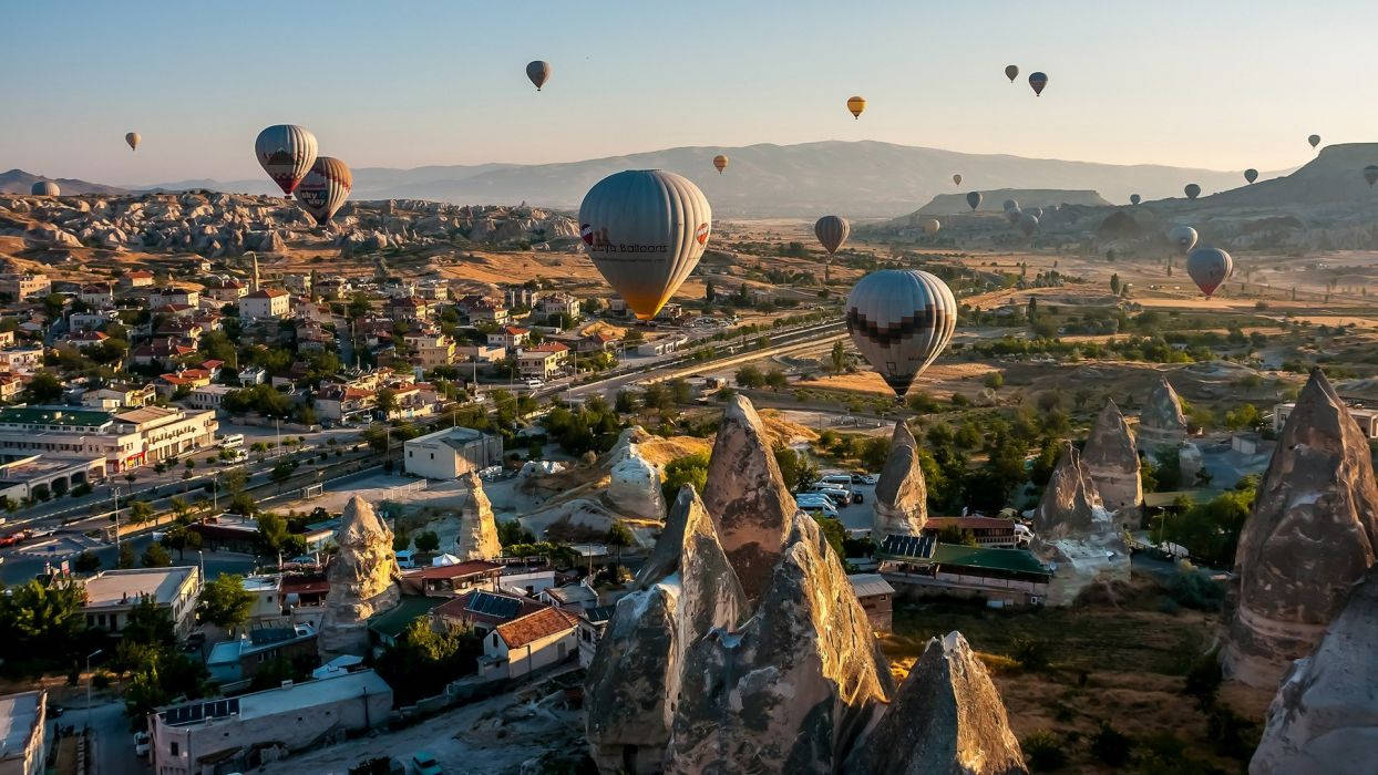
<path fill-rule="evenodd" d="M 0 169 L 109 183 L 259 176 L 277 123 L 356 168 L 876 139 L 1268 171 L 1310 132 L 1378 140 L 1372 0 L 0 0 Z"/>

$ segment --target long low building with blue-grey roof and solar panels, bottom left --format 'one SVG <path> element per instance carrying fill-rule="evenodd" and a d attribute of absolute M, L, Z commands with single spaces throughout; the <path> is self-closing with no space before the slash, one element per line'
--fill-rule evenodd
<path fill-rule="evenodd" d="M 391 709 L 393 688 L 373 670 L 160 708 L 149 714 L 153 771 L 248 771 L 269 761 L 270 754 L 379 727 Z"/>

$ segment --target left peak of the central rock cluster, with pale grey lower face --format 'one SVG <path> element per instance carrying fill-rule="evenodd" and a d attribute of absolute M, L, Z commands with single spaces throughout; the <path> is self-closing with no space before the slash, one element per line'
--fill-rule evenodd
<path fill-rule="evenodd" d="M 660 772 L 683 652 L 712 628 L 736 628 L 747 600 L 692 487 L 679 491 L 650 559 L 598 644 L 586 679 L 590 752 L 604 772 Z"/>

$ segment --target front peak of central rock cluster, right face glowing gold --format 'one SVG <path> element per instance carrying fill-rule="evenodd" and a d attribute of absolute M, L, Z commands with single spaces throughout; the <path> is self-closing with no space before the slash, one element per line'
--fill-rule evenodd
<path fill-rule="evenodd" d="M 755 615 L 685 654 L 672 772 L 839 768 L 894 692 L 865 611 L 813 518 L 798 513 Z"/>

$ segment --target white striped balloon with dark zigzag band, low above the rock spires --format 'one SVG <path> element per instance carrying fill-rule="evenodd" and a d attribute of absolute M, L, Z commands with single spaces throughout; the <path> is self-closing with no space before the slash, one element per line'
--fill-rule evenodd
<path fill-rule="evenodd" d="M 956 299 L 926 271 L 875 271 L 847 296 L 852 341 L 898 398 L 943 352 L 955 329 Z"/>

